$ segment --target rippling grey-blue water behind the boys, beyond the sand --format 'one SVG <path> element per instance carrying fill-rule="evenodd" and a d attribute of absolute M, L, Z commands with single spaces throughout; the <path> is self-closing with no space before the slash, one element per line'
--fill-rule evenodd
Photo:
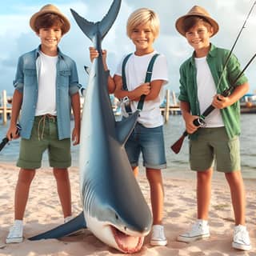
<path fill-rule="evenodd" d="M 0 120 L 2 122 L 2 120 Z M 0 123 L 0 142 L 5 137 L 9 123 L 3 126 Z M 256 115 L 242 114 L 241 116 L 242 134 L 240 136 L 242 175 L 244 178 L 256 178 Z M 185 130 L 181 115 L 170 115 L 169 122 L 164 126 L 167 169 L 164 174 L 175 177 L 186 177 L 191 175 L 188 163 L 188 139 L 185 138 L 182 150 L 179 154 L 174 154 L 170 146 L 180 138 Z M 0 162 L 13 162 L 18 158 L 19 139 L 7 144 L 0 152 Z M 78 166 L 79 146 L 72 146 L 72 164 Z M 47 154 L 44 154 L 42 166 L 49 166 Z"/>

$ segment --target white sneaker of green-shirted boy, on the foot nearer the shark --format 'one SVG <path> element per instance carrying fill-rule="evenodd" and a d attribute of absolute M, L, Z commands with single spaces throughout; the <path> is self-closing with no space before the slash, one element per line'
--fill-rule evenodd
<path fill-rule="evenodd" d="M 194 242 L 198 239 L 209 237 L 210 230 L 208 222 L 205 220 L 198 219 L 192 226 L 191 230 L 184 234 L 180 234 L 177 240 L 180 242 Z"/>

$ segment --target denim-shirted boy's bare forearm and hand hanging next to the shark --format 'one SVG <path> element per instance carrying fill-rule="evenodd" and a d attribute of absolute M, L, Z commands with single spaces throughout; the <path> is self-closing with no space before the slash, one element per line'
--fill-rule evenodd
<path fill-rule="evenodd" d="M 74 114 L 74 129 L 72 131 L 72 142 L 75 146 L 78 145 L 80 142 L 81 109 L 79 93 L 75 93 L 71 96 L 71 106 Z"/>

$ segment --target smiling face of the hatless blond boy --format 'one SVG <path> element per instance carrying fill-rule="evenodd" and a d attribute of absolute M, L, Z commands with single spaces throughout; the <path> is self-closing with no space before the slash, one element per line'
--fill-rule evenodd
<path fill-rule="evenodd" d="M 154 33 L 148 23 L 134 27 L 130 34 L 130 39 L 134 42 L 136 54 L 143 55 L 154 51 Z"/>

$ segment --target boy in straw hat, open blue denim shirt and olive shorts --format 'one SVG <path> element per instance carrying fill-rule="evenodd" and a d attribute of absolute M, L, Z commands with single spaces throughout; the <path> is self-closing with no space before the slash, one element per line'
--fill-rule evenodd
<path fill-rule="evenodd" d="M 70 22 L 56 6 L 43 6 L 30 18 L 30 26 L 41 40 L 38 49 L 18 58 L 14 97 L 7 138 L 21 136 L 17 166 L 21 169 L 15 189 L 14 226 L 6 243 L 22 242 L 22 220 L 30 183 L 41 167 L 42 154 L 48 150 L 50 166 L 57 182 L 64 222 L 71 218 L 70 113 L 74 113 L 72 141 L 79 143 L 80 97 L 75 62 L 62 54 L 58 43 L 70 30 Z M 16 134 L 20 115 L 22 130 Z"/>

